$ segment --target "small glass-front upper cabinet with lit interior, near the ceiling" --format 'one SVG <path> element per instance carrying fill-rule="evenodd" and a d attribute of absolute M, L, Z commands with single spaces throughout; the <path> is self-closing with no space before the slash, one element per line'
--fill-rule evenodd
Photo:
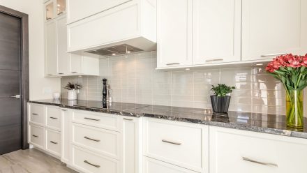
<path fill-rule="evenodd" d="M 52 20 L 66 13 L 66 0 L 50 0 L 45 2 L 45 21 Z"/>

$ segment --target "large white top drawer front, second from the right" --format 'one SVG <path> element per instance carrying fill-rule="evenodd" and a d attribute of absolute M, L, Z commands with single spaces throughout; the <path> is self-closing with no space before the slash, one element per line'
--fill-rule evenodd
<path fill-rule="evenodd" d="M 144 154 L 181 167 L 202 172 L 208 169 L 208 127 L 144 119 Z"/>

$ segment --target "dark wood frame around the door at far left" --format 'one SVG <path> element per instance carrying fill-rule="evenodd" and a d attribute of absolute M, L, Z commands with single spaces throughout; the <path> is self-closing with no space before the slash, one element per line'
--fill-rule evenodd
<path fill-rule="evenodd" d="M 0 6 L 0 13 L 6 13 L 14 17 L 20 18 L 21 21 L 21 80 L 20 95 L 21 99 L 21 114 L 22 114 L 22 149 L 29 149 L 28 143 L 28 114 L 27 102 L 29 100 L 29 17 L 25 13 L 17 10 Z"/>

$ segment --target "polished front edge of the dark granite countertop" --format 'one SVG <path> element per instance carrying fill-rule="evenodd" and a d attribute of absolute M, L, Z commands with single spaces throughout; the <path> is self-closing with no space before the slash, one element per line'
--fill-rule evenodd
<path fill-rule="evenodd" d="M 211 120 L 201 120 L 201 119 L 189 119 L 189 118 L 178 118 L 174 116 L 167 116 L 167 115 L 161 115 L 161 114 L 147 114 L 147 113 L 133 113 L 129 112 L 129 110 L 126 111 L 119 111 L 119 110 L 107 110 L 105 108 L 98 108 L 98 107 L 87 107 L 87 106 L 78 106 L 78 105 L 63 105 L 61 103 L 48 103 L 38 100 L 29 100 L 28 103 L 36 103 L 41 105 L 53 105 L 53 106 L 59 106 L 67 109 L 73 109 L 73 110 L 85 110 L 85 111 L 91 111 L 91 112 L 101 112 L 101 113 L 107 113 L 107 114 L 116 114 L 120 116 L 131 116 L 131 117 L 137 117 L 140 118 L 142 116 L 149 117 L 149 118 L 155 118 L 155 119 L 165 119 L 169 121 L 180 121 L 180 122 L 186 122 L 186 123 L 197 123 L 197 124 L 203 124 L 207 126 L 217 126 L 217 127 L 223 127 L 223 128 L 232 128 L 237 130 L 248 130 L 253 131 L 257 133 L 267 133 L 272 135 L 282 135 L 287 137 L 299 137 L 307 139 L 307 133 L 297 130 L 285 130 L 285 129 L 277 129 L 277 128 L 268 128 L 268 127 L 260 127 L 260 126 L 248 126 L 244 124 L 239 123 L 230 123 L 230 122 L 218 122 L 218 121 L 211 121 Z"/>

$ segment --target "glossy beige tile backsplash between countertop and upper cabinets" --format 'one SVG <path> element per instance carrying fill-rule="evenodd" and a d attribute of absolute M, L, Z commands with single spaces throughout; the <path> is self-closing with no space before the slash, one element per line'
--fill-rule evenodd
<path fill-rule="evenodd" d="M 211 85 L 234 86 L 230 110 L 285 114 L 285 90 L 264 67 L 203 70 L 156 70 L 156 52 L 144 52 L 100 59 L 100 76 L 63 77 L 78 82 L 78 99 L 102 100 L 103 78 L 112 89 L 114 102 L 211 108 Z M 307 96 L 306 96 L 307 97 Z M 306 98 L 305 97 L 305 98 Z"/>

